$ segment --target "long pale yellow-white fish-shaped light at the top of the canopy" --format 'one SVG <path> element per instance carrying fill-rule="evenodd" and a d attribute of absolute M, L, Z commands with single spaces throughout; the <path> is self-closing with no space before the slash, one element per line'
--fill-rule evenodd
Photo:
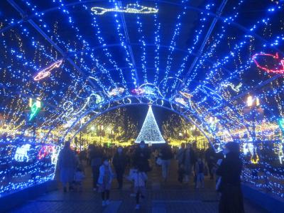
<path fill-rule="evenodd" d="M 141 14 L 149 14 L 149 13 L 158 13 L 158 9 L 148 6 L 141 6 L 138 4 L 127 4 L 125 7 L 114 7 L 114 8 L 104 8 L 99 6 L 93 6 L 91 11 L 94 12 L 95 15 L 104 15 L 107 12 L 119 12 L 119 13 L 141 13 Z"/>

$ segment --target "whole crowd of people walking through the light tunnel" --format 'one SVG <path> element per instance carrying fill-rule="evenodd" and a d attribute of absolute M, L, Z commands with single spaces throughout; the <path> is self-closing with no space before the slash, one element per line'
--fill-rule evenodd
<path fill-rule="evenodd" d="M 216 190 L 221 194 L 219 212 L 244 212 L 241 193 L 242 163 L 239 157 L 239 144 L 227 143 L 224 153 L 215 153 L 214 148 L 198 151 L 191 143 L 182 143 L 180 148 L 172 148 L 167 143 L 149 148 L 144 141 L 138 146 L 122 148 L 104 148 L 90 145 L 89 148 L 76 153 L 70 148 L 70 142 L 60 152 L 58 169 L 63 191 L 82 190 L 85 162 L 92 168 L 93 190 L 102 195 L 102 206 L 107 206 L 111 183 L 116 178 L 118 189 L 123 188 L 124 180 L 133 182 L 133 195 L 136 197 L 136 209 L 140 208 L 141 198 L 146 196 L 148 173 L 155 166 L 162 168 L 163 182 L 167 182 L 170 164 L 174 159 L 178 163 L 178 180 L 187 183 L 195 182 L 195 188 L 204 187 L 204 176 L 216 180 Z M 127 174 L 126 175 L 126 170 Z M 190 177 L 193 178 L 190 178 Z M 237 211 L 236 211 L 237 209 Z"/>

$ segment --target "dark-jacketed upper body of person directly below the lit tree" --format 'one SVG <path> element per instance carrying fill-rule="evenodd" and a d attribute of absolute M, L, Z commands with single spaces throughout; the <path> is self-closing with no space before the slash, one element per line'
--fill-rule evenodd
<path fill-rule="evenodd" d="M 148 161 L 150 157 L 151 151 L 146 147 L 145 142 L 141 141 L 138 148 L 136 148 L 133 154 L 133 166 L 140 168 L 141 172 L 147 173 L 151 170 Z"/>

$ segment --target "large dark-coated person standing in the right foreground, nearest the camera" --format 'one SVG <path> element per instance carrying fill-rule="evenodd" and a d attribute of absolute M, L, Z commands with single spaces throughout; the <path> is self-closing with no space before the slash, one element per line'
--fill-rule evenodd
<path fill-rule="evenodd" d="M 224 158 L 216 172 L 217 175 L 221 176 L 219 212 L 243 213 L 244 200 L 241 192 L 241 170 L 243 165 L 239 157 L 239 144 L 235 142 L 226 143 L 224 153 L 226 158 Z"/>

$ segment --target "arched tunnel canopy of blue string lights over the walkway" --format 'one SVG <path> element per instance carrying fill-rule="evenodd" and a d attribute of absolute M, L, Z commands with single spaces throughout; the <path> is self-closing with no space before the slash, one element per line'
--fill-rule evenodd
<path fill-rule="evenodd" d="M 183 116 L 219 153 L 240 143 L 244 180 L 284 197 L 282 1 L 9 0 L 0 8 L 0 161 L 16 167 L 0 195 L 51 180 L 58 145 L 92 119 L 150 104 Z M 30 99 L 40 105 L 28 107 Z M 33 179 L 20 184 L 18 174 Z"/>

